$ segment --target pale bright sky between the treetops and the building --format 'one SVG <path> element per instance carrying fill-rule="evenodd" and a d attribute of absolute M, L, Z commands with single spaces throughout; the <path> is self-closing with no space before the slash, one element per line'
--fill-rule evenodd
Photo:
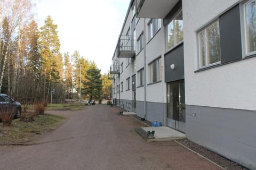
<path fill-rule="evenodd" d="M 48 15 L 58 25 L 61 53 L 77 50 L 107 73 L 130 0 L 35 0 L 42 27 Z"/>

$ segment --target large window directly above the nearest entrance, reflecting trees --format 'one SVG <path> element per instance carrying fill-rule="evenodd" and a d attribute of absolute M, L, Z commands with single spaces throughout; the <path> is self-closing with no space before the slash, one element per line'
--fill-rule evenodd
<path fill-rule="evenodd" d="M 167 50 L 172 49 L 183 41 L 183 18 L 180 11 L 167 25 Z"/>

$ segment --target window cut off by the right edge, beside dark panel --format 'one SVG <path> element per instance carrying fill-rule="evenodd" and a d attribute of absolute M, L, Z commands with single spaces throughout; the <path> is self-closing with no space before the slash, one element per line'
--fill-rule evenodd
<path fill-rule="evenodd" d="M 244 4 L 245 52 L 256 52 L 256 2 L 248 1 Z"/>

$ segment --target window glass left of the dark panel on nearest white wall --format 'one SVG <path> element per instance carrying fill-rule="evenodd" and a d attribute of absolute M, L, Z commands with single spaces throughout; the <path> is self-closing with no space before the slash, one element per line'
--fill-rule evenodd
<path fill-rule="evenodd" d="M 199 67 L 220 62 L 220 28 L 219 21 L 198 33 Z"/>

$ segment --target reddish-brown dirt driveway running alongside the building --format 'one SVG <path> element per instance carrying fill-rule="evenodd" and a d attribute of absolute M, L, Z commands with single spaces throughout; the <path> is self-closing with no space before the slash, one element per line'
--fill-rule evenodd
<path fill-rule="evenodd" d="M 36 145 L 0 147 L 0 169 L 220 169 L 175 142 L 145 142 L 118 108 L 55 111 L 69 118 Z"/>

